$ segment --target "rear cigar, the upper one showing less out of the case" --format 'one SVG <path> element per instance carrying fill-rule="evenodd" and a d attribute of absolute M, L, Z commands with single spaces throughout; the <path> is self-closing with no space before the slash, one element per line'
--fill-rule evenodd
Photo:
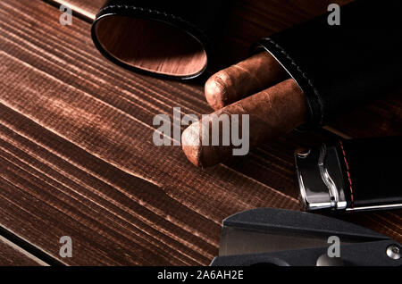
<path fill-rule="evenodd" d="M 281 64 L 263 52 L 214 74 L 205 84 L 205 97 L 217 111 L 288 78 Z"/>

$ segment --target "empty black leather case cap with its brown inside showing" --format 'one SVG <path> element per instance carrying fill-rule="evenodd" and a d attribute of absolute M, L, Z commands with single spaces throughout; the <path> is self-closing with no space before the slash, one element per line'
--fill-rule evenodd
<path fill-rule="evenodd" d="M 106 58 L 132 71 L 192 79 L 212 59 L 224 0 L 109 0 L 96 15 L 92 38 Z"/>

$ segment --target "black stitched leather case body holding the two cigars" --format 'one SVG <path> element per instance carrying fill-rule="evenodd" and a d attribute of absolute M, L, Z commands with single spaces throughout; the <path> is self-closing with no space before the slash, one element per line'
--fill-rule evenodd
<path fill-rule="evenodd" d="M 309 106 L 308 128 L 373 97 L 386 95 L 402 78 L 402 1 L 358 0 L 264 38 L 253 53 L 267 50 L 302 88 Z"/>

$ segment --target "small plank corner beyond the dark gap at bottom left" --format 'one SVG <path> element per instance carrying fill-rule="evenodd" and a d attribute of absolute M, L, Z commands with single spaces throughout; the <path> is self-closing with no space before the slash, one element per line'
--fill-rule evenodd
<path fill-rule="evenodd" d="M 0 236 L 0 266 L 44 266 L 46 263 L 30 255 L 20 246 Z"/>

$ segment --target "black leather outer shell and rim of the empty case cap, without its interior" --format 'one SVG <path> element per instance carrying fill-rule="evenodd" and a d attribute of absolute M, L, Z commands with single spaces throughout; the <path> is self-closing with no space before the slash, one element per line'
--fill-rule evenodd
<path fill-rule="evenodd" d="M 132 71 L 144 71 L 121 63 L 121 61 L 113 57 L 113 54 L 109 54 L 96 37 L 96 25 L 101 19 L 113 15 L 158 21 L 180 29 L 191 37 L 196 38 L 204 47 L 208 62 L 210 62 L 214 55 L 212 38 L 214 38 L 215 28 L 221 16 L 220 13 L 222 13 L 224 2 L 225 0 L 109 0 L 106 1 L 100 12 L 96 14 L 96 21 L 94 21 L 92 25 L 92 38 L 99 51 L 104 54 L 106 58 L 113 61 L 113 63 L 117 63 Z M 112 36 L 113 30 L 109 32 Z M 133 32 L 135 32 L 135 30 L 133 30 Z M 160 46 L 160 48 L 163 48 L 163 46 Z M 199 71 L 197 74 L 191 74 L 190 76 L 162 76 L 175 79 L 192 79 L 201 75 L 205 69 Z M 157 75 L 155 72 L 145 72 Z"/>

